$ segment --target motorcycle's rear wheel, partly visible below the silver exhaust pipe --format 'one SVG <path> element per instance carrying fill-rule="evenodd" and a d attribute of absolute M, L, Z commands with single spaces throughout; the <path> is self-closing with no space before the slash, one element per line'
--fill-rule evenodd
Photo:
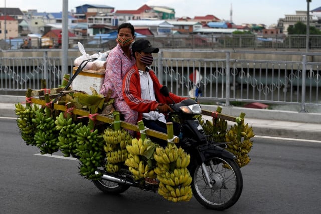
<path fill-rule="evenodd" d="M 108 181 L 108 180 L 103 180 L 103 179 L 93 180 L 92 182 L 100 191 L 106 194 L 113 194 L 113 195 L 123 193 L 130 187 L 128 185 L 118 184 L 118 183 Z"/>

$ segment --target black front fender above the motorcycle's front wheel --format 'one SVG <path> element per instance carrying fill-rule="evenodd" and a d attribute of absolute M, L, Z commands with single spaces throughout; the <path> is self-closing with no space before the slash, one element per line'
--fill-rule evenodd
<path fill-rule="evenodd" d="M 210 160 L 213 157 L 236 159 L 236 156 L 233 153 L 213 144 L 199 145 L 196 149 L 198 153 L 196 155 L 197 162 L 199 164 L 203 163 L 204 161 Z"/>

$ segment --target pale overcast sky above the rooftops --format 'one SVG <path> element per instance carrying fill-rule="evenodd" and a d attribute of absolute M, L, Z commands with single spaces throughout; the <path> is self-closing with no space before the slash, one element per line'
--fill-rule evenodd
<path fill-rule="evenodd" d="M 235 24 L 256 23 L 277 24 L 279 18 L 295 14 L 295 11 L 307 11 L 306 0 L 2 0 L 0 7 L 37 9 L 38 12 L 61 12 L 63 1 L 68 1 L 68 10 L 76 11 L 84 4 L 107 5 L 117 10 L 136 10 L 142 5 L 167 6 L 175 9 L 175 16 L 182 17 L 214 15 L 221 20 L 230 20 Z M 310 10 L 321 7 L 321 1 L 312 0 Z"/>

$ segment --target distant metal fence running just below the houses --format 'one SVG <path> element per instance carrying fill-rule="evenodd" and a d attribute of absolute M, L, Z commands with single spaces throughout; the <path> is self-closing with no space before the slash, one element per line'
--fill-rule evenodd
<path fill-rule="evenodd" d="M 187 34 L 187 35 L 168 35 L 168 36 L 138 36 L 146 38 L 159 48 L 166 49 L 273 49 L 273 50 L 302 50 L 306 49 L 306 35 L 255 35 L 255 34 Z M 33 49 L 57 48 L 55 44 L 58 38 L 47 38 L 51 41 L 42 43 L 41 38 L 32 39 Z M 77 43 L 81 42 L 85 48 L 107 48 L 111 49 L 116 45 L 115 37 L 96 36 L 96 37 L 70 37 L 69 48 L 77 48 Z M 309 49 L 321 49 L 321 36 L 309 36 Z M 8 47 L 3 49 L 22 49 L 23 39 L 9 39 Z"/>

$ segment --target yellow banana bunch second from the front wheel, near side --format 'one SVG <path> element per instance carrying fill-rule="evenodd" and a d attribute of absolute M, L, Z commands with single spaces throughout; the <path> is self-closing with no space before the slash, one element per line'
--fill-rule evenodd
<path fill-rule="evenodd" d="M 131 145 L 126 146 L 128 158 L 125 164 L 128 166 L 135 180 L 156 178 L 154 172 L 155 163 L 153 161 L 155 148 L 156 145 L 149 138 L 145 138 L 144 140 L 142 140 L 142 138 L 139 140 L 133 138 Z"/>

